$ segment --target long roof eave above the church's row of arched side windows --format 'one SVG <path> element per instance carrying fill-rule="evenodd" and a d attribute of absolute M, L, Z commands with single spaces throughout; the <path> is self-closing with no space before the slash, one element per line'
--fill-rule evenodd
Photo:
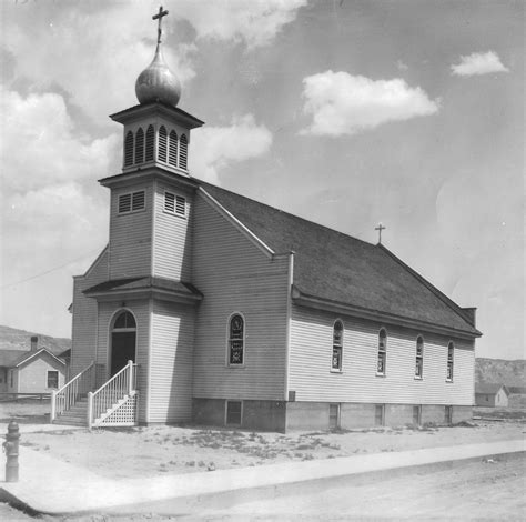
<path fill-rule="evenodd" d="M 401 327 L 413 328 L 417 330 L 425 330 L 433 333 L 442 333 L 447 335 L 453 335 L 462 339 L 473 340 L 478 338 L 482 333 L 475 329 L 474 332 L 458 330 L 451 327 L 444 327 L 442 324 L 428 323 L 425 321 L 418 321 L 415 319 L 408 319 L 399 315 L 395 315 L 387 312 L 382 312 L 380 310 L 370 310 L 361 307 L 356 307 L 350 303 L 342 303 L 336 301 L 331 301 L 327 299 L 318 298 L 315 295 L 308 295 L 303 293 L 296 287 L 292 288 L 292 301 L 294 304 L 302 307 L 314 308 L 317 310 L 328 310 L 338 313 L 346 313 L 361 319 L 368 319 L 372 321 L 380 321 L 386 324 L 394 324 Z"/>

